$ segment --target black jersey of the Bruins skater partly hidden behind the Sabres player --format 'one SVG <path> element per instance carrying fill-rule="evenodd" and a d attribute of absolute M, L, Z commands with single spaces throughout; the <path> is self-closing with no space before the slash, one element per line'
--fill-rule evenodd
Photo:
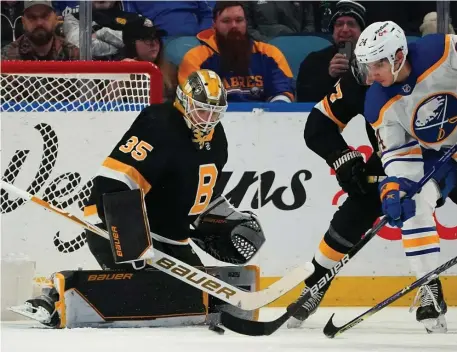
<path fill-rule="evenodd" d="M 312 109 L 305 128 L 307 146 L 323 159 L 348 148 L 341 131 L 357 115 L 363 114 L 368 86 L 360 85 L 348 71 Z M 378 145 L 374 130 L 366 123 L 368 138 L 375 152 Z M 375 155 L 374 153 L 373 155 Z M 382 168 L 381 168 L 382 170 Z"/>

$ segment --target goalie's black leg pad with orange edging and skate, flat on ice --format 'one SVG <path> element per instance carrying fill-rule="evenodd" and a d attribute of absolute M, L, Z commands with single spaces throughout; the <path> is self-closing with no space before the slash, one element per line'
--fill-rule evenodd
<path fill-rule="evenodd" d="M 207 268 L 207 271 L 233 286 L 251 292 L 259 290 L 256 266 Z M 55 328 L 217 323 L 221 308 L 246 319 L 258 317 L 258 310 L 240 310 L 153 268 L 62 271 L 53 275 L 52 282 L 47 297 L 54 301 L 54 314 L 42 307 L 35 309 L 35 299 L 11 310 Z"/>

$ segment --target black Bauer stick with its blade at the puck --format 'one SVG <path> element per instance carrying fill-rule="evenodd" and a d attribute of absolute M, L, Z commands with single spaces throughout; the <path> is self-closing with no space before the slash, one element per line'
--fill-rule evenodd
<path fill-rule="evenodd" d="M 446 162 L 448 162 L 454 153 L 457 152 L 457 145 L 454 145 L 451 149 L 448 149 L 441 158 L 435 163 L 435 165 L 422 177 L 422 179 L 415 184 L 411 189 L 408 196 L 412 197 L 422 187 L 432 178 L 435 172 L 440 169 Z M 384 216 L 381 221 L 375 225 L 371 230 L 369 230 L 365 236 L 355 244 L 354 247 L 339 261 L 336 265 L 325 272 L 325 274 L 319 279 L 319 281 L 311 287 L 311 289 L 306 292 L 303 297 L 300 297 L 296 302 L 294 302 L 291 307 L 286 310 L 286 312 L 278 317 L 275 320 L 271 321 L 253 321 L 238 318 L 231 315 L 228 312 L 222 312 L 221 314 L 221 324 L 224 325 L 227 329 L 235 331 L 239 334 L 249 335 L 249 336 L 261 336 L 261 335 L 271 335 L 276 330 L 278 330 L 281 325 L 283 325 L 292 315 L 294 315 L 300 306 L 305 303 L 312 295 L 315 295 L 319 289 L 329 283 L 333 277 L 335 277 L 338 272 L 352 259 L 388 222 L 387 218 Z"/>

